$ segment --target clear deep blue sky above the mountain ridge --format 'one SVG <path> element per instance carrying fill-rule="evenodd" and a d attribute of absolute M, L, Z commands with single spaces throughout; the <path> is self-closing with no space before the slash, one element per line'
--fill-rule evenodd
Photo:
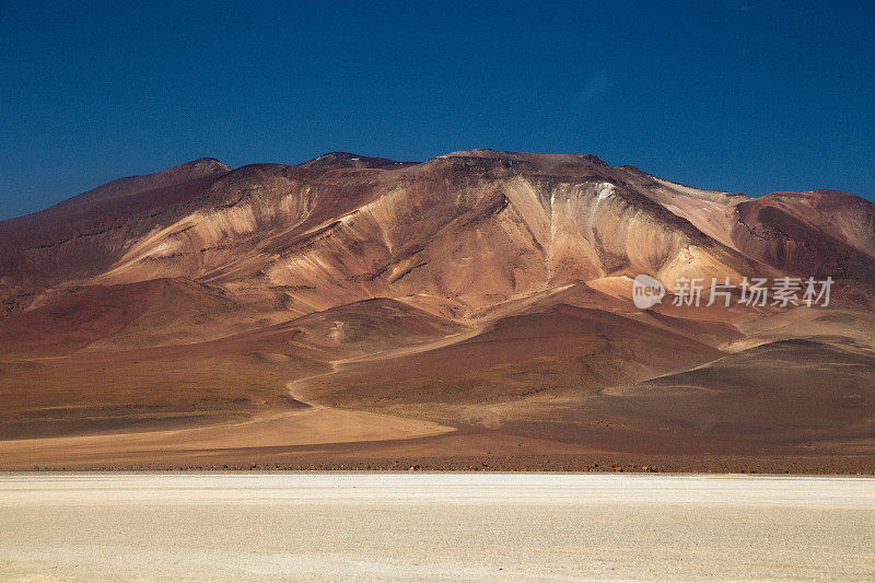
<path fill-rule="evenodd" d="M 875 2 L 0 0 L 0 218 L 201 156 L 590 152 L 875 196 Z"/>

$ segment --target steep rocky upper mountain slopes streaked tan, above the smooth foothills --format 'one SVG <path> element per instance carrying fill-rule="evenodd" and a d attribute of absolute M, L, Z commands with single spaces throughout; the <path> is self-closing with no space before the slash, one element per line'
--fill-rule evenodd
<path fill-rule="evenodd" d="M 58 285 L 187 278 L 260 310 L 425 295 L 464 315 L 573 281 L 789 273 L 831 275 L 865 303 L 873 217 L 852 195 L 749 199 L 592 155 L 203 159 L 0 223 L 1 299 L 20 311 Z"/>

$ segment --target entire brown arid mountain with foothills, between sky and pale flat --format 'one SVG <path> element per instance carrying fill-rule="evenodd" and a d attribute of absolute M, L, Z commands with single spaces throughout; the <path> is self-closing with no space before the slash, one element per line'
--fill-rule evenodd
<path fill-rule="evenodd" d="M 788 277 L 829 304 L 739 301 Z M 686 305 L 684 278 L 736 289 Z M 871 474 L 873 307 L 847 193 L 201 159 L 0 222 L 0 468 Z"/>

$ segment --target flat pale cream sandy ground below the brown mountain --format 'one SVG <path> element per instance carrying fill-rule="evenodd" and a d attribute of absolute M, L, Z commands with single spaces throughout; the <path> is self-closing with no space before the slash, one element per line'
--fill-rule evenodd
<path fill-rule="evenodd" d="M 3 580 L 875 578 L 875 479 L 7 474 Z"/>

